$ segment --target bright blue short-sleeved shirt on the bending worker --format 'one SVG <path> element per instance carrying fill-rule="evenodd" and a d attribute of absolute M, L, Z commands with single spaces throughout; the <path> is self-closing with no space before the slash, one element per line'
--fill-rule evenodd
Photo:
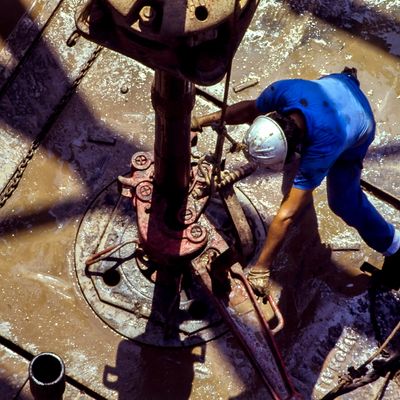
<path fill-rule="evenodd" d="M 367 98 L 356 79 L 331 74 L 318 80 L 286 79 L 268 86 L 256 101 L 262 113 L 300 111 L 306 123 L 294 187 L 313 189 L 347 150 L 375 132 Z"/>

